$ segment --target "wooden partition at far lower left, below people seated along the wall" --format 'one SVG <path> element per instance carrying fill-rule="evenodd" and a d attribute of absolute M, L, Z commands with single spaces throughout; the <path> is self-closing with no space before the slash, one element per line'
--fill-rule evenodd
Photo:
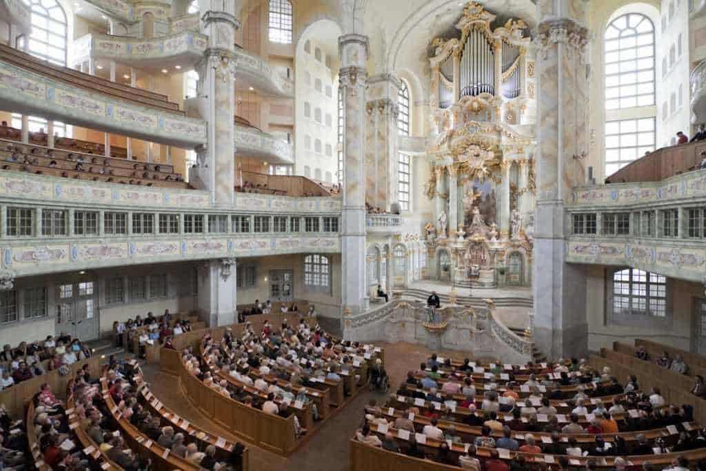
<path fill-rule="evenodd" d="M 76 371 L 81 369 L 84 364 L 89 365 L 92 375 L 98 376 L 100 368 L 98 366 L 100 359 L 98 357 L 90 357 L 89 359 L 81 360 L 71 366 L 68 366 L 68 374 L 61 376 L 59 370 L 49 371 L 47 374 L 35 376 L 35 378 L 22 381 L 21 383 L 0 391 L 0 403 L 6 406 L 6 410 L 10 417 L 19 419 L 23 415 L 23 410 L 27 401 L 36 393 L 40 392 L 40 386 L 47 383 L 52 388 L 56 395 L 63 395 L 66 391 L 68 381 L 76 376 Z"/>

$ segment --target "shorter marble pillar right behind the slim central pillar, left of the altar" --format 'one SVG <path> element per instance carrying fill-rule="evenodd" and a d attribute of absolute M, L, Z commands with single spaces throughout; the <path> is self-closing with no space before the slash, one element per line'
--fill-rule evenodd
<path fill-rule="evenodd" d="M 366 201 L 389 210 L 397 201 L 397 93 L 400 81 L 389 73 L 368 79 L 366 92 Z"/>

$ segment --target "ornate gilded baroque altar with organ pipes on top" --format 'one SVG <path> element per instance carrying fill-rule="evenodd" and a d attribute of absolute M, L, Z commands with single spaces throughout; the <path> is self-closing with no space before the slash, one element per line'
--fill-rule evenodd
<path fill-rule="evenodd" d="M 524 21 L 495 23 L 472 2 L 458 37 L 431 43 L 427 248 L 437 278 L 462 287 L 530 285 L 534 46 Z"/>

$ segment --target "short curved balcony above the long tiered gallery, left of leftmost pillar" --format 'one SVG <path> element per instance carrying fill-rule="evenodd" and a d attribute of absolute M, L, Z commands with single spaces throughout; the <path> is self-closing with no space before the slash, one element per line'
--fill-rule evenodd
<path fill-rule="evenodd" d="M 146 40 L 89 33 L 73 42 L 73 64 L 92 57 L 155 71 L 172 64 L 189 68 L 207 48 L 208 37 L 188 30 Z"/>

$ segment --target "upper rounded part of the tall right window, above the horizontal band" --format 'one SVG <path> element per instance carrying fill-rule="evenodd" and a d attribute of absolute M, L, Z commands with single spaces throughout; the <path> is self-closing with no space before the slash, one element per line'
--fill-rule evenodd
<path fill-rule="evenodd" d="M 654 25 L 640 13 L 618 16 L 606 28 L 606 109 L 654 105 Z"/>

